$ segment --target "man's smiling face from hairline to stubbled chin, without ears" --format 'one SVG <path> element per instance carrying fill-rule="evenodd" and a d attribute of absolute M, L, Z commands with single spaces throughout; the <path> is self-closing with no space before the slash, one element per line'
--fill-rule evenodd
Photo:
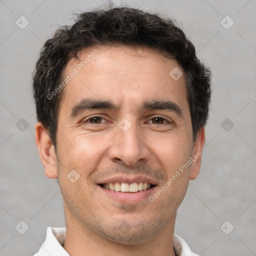
<path fill-rule="evenodd" d="M 81 70 L 71 59 L 63 73 L 78 71 L 64 88 L 57 127 L 66 221 L 135 244 L 173 227 L 195 164 L 166 185 L 195 153 L 185 77 L 174 80 L 169 72 L 182 70 L 177 62 L 146 48 L 95 46 L 81 60 L 94 48 Z M 140 182 L 153 186 L 138 190 Z M 138 191 L 109 189 L 118 183 Z"/>

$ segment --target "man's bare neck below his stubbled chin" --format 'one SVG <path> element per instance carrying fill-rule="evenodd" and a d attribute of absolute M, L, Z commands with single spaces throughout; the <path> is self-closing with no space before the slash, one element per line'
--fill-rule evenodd
<path fill-rule="evenodd" d="M 154 237 L 141 240 L 138 244 L 122 244 L 108 240 L 79 223 L 70 213 L 65 212 L 66 236 L 63 244 L 69 255 L 76 256 L 175 256 L 173 231 L 175 216 Z"/>

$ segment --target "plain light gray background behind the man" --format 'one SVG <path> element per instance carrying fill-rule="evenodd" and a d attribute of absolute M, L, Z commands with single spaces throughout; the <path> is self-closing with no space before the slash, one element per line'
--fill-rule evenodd
<path fill-rule="evenodd" d="M 175 232 L 201 255 L 256 255 L 256 1 L 113 2 L 176 19 L 213 73 L 201 172 L 190 182 Z M 59 25 L 71 24 L 73 13 L 102 3 L 0 0 L 1 256 L 31 255 L 47 226 L 64 226 L 58 184 L 44 176 L 34 143 L 31 72 L 40 47 Z M 15 24 L 21 15 L 29 21 L 24 29 Z M 222 24 L 229 26 L 231 20 L 221 24 L 226 15 L 234 21 L 229 29 Z M 21 118 L 28 127 L 20 126 Z M 229 123 L 222 127 L 226 118 Z M 23 235 L 15 229 L 21 220 L 29 226 Z M 220 228 L 226 220 L 225 232 L 234 226 L 229 234 Z"/>

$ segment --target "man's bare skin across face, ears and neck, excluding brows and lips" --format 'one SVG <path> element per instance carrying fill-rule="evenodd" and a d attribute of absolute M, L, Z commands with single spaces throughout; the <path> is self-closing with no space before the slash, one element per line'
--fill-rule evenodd
<path fill-rule="evenodd" d="M 182 68 L 174 59 L 142 47 L 95 45 L 84 49 L 81 59 L 95 48 L 99 52 L 64 88 L 57 154 L 47 130 L 40 122 L 35 125 L 45 175 L 58 178 L 63 195 L 63 247 L 71 256 L 108 256 L 116 251 L 127 256 L 175 255 L 176 210 L 189 179 L 199 173 L 201 156 L 154 202 L 148 197 L 135 203 L 114 200 L 97 182 L 112 174 L 147 175 L 157 183 L 155 193 L 189 157 L 202 151 L 204 128 L 193 142 L 184 75 L 176 81 L 169 75 L 174 67 Z M 71 59 L 63 76 L 78 62 Z M 84 98 L 110 100 L 118 108 L 83 109 L 72 117 L 72 108 Z M 145 100 L 172 101 L 181 115 L 168 109 L 142 109 Z M 89 119 L 95 115 L 102 119 Z M 123 118 L 131 124 L 125 132 L 118 126 Z M 80 174 L 74 183 L 67 178 L 72 169 Z"/>

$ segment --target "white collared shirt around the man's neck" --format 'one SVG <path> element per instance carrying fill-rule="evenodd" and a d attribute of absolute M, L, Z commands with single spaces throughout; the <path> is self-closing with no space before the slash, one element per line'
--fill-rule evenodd
<path fill-rule="evenodd" d="M 70 256 L 62 247 L 65 240 L 65 227 L 47 227 L 46 238 L 39 251 L 33 256 Z M 173 235 L 173 247 L 179 256 L 199 256 L 193 253 L 187 243 L 177 234 Z"/>

